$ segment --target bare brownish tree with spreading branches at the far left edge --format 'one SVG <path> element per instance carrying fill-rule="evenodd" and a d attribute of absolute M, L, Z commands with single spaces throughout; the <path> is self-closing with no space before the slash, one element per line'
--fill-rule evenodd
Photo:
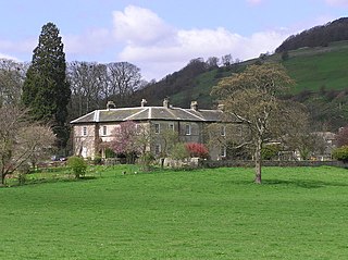
<path fill-rule="evenodd" d="M 13 106 L 0 108 L 0 175 L 7 175 L 33 162 L 51 148 L 54 135 L 50 127 L 32 123 L 26 111 Z"/>

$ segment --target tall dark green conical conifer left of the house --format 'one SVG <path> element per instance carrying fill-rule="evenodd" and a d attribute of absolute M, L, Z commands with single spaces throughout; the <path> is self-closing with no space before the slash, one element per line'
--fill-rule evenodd
<path fill-rule="evenodd" d="M 63 149 L 69 139 L 66 106 L 71 98 L 63 47 L 58 27 L 53 23 L 44 25 L 22 95 L 22 102 L 34 120 L 51 124 L 59 149 Z"/>

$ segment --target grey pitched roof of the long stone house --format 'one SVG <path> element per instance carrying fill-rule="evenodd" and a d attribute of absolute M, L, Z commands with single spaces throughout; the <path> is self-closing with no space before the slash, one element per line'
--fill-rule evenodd
<path fill-rule="evenodd" d="M 123 122 L 146 120 L 219 122 L 222 121 L 221 110 L 194 110 L 165 107 L 137 107 L 95 110 L 74 121 L 72 124 L 97 122 Z"/>

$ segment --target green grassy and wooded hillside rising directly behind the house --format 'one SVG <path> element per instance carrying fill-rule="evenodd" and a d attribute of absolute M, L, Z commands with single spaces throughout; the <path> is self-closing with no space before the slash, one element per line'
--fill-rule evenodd
<path fill-rule="evenodd" d="M 206 67 L 203 62 L 188 64 L 169 75 L 159 83 L 138 91 L 135 104 L 146 98 L 151 104 L 161 104 L 164 97 L 170 97 L 176 107 L 188 108 L 191 100 L 197 100 L 200 108 L 212 108 L 214 100 L 211 88 L 233 72 L 243 71 L 246 65 L 256 62 L 281 62 L 296 85 L 284 98 L 304 103 L 312 115 L 318 131 L 336 132 L 348 121 L 348 41 L 328 44 L 327 47 L 300 48 L 288 51 L 288 58 L 281 53 L 261 55 L 231 66 Z"/>

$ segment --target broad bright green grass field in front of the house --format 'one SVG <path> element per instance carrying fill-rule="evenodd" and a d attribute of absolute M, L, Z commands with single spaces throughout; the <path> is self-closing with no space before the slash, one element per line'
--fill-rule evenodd
<path fill-rule="evenodd" d="M 1 188 L 0 259 L 346 259 L 347 170 L 122 175 Z"/>

